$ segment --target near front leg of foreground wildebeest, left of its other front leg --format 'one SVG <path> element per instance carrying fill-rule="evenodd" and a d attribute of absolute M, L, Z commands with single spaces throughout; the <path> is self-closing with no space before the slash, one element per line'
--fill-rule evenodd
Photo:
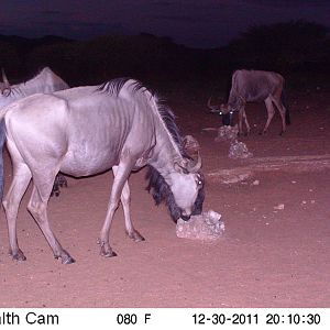
<path fill-rule="evenodd" d="M 134 163 L 133 163 L 134 164 Z M 116 256 L 117 253 L 112 251 L 110 243 L 109 243 L 109 235 L 110 235 L 110 227 L 113 219 L 113 215 L 119 206 L 119 200 L 128 180 L 133 164 L 123 164 L 122 162 L 117 166 L 114 180 L 111 189 L 110 201 L 108 205 L 106 220 L 100 233 L 99 243 L 101 245 L 101 255 L 103 256 Z"/>

